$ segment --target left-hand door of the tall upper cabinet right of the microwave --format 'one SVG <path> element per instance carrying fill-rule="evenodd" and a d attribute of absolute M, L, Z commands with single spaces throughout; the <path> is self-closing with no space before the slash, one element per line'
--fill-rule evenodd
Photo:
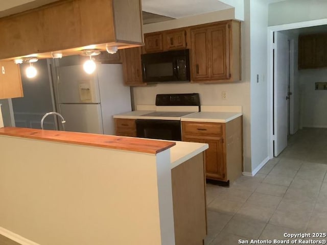
<path fill-rule="evenodd" d="M 208 31 L 207 28 L 191 30 L 192 45 L 192 80 L 208 80 Z"/>

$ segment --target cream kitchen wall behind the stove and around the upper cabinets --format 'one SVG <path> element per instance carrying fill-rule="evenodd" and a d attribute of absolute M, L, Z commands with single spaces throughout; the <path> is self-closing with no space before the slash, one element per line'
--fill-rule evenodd
<path fill-rule="evenodd" d="M 227 9 L 199 16 L 186 17 L 165 22 L 146 24 L 144 32 L 169 30 L 195 24 L 233 19 L 233 9 Z M 224 84 L 158 84 L 133 88 L 135 105 L 154 105 L 158 93 L 200 93 L 201 105 L 239 105 L 243 107 L 244 127 L 244 170 L 251 171 L 251 136 L 250 136 L 250 26 L 242 22 L 242 81 Z M 221 92 L 227 93 L 222 100 Z"/>

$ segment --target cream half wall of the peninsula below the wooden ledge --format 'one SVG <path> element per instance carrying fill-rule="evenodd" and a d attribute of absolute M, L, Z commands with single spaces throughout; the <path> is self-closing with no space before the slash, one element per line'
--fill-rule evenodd
<path fill-rule="evenodd" d="M 170 150 L 4 135 L 0 148 L 0 234 L 41 245 L 175 244 Z"/>

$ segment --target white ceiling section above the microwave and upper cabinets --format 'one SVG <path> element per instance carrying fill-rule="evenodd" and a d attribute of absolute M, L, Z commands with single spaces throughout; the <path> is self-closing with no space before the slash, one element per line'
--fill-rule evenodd
<path fill-rule="evenodd" d="M 142 0 L 142 9 L 149 13 L 172 18 L 182 18 L 197 14 L 233 8 L 218 0 Z"/>

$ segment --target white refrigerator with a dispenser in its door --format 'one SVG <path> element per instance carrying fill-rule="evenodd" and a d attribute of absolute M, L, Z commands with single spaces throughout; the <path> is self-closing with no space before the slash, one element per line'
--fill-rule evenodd
<path fill-rule="evenodd" d="M 82 65 L 58 67 L 58 103 L 66 131 L 114 135 L 112 116 L 131 111 L 122 65 L 97 64 L 91 75 Z"/>

